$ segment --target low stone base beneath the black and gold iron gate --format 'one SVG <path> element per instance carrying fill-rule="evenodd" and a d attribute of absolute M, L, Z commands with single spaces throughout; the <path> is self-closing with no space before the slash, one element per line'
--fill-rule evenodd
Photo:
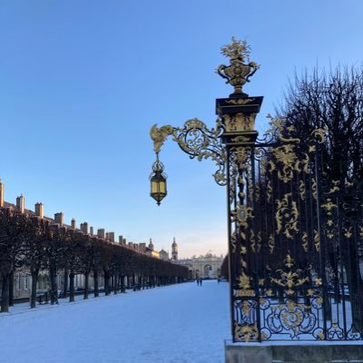
<path fill-rule="evenodd" d="M 362 341 L 225 342 L 226 363 L 363 363 Z"/>

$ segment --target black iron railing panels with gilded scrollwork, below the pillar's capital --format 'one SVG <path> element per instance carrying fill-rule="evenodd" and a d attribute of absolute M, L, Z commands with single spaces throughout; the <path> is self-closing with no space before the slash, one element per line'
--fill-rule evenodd
<path fill-rule="evenodd" d="M 363 339 L 363 193 L 326 180 L 324 130 L 272 125 L 227 146 L 233 339 Z"/>

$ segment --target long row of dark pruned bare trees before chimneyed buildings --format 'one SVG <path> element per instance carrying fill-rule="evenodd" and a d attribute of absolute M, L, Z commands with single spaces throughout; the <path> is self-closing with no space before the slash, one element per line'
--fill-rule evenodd
<path fill-rule="evenodd" d="M 88 299 L 90 278 L 99 296 L 99 277 L 104 292 L 124 291 L 128 285 L 160 286 L 188 278 L 188 269 L 146 256 L 125 246 L 74 231 L 51 221 L 29 216 L 13 208 L 0 209 L 1 312 L 14 302 L 15 270 L 25 269 L 32 277 L 30 306 L 35 307 L 37 281 L 42 271 L 50 278 L 50 300 L 58 303 L 57 277 L 64 273 L 63 295 L 74 301 L 74 277 L 84 276 L 83 298 Z"/>

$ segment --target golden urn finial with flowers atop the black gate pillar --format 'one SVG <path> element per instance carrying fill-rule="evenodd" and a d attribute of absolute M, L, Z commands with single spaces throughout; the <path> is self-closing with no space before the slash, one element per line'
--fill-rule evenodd
<path fill-rule="evenodd" d="M 221 64 L 216 72 L 234 87 L 231 96 L 247 96 L 242 93 L 242 87 L 260 68 L 260 64 L 250 62 L 250 45 L 232 37 L 231 44 L 221 47 L 221 54 L 230 58 L 230 65 Z"/>

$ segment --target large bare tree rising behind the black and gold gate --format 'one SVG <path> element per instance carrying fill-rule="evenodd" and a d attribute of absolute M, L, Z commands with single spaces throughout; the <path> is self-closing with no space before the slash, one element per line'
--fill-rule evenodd
<path fill-rule="evenodd" d="M 322 175 L 325 191 L 338 189 L 339 209 L 344 211 L 351 204 L 344 195 L 354 195 L 360 209 L 363 204 L 361 185 L 363 182 L 363 66 L 338 66 L 329 73 L 315 69 L 289 83 L 283 103 L 277 113 L 286 117 L 286 125 L 292 126 L 291 135 L 303 140 L 311 132 L 321 128 L 327 131 L 327 141 L 322 150 Z M 290 129 L 291 130 L 291 129 Z M 339 199 L 340 198 L 340 199 Z M 349 207 L 349 205 L 348 205 Z M 348 208 L 349 209 L 349 208 Z M 351 208 L 350 208 L 351 209 Z M 353 208 L 354 210 L 354 208 Z M 357 209 L 356 209 L 357 210 Z M 350 211 L 340 224 L 350 223 L 353 229 L 361 225 L 359 211 Z M 353 224 L 354 225 L 353 225 Z M 363 280 L 359 273 L 358 245 L 340 236 L 336 244 L 327 246 L 327 259 L 331 269 L 338 275 L 338 263 L 347 273 L 348 289 L 352 305 L 354 324 L 363 329 L 363 304 L 359 292 L 363 292 Z M 340 250 L 337 256 L 335 250 Z M 338 260 L 337 260 L 338 259 Z M 358 328 L 358 329 L 359 329 Z"/>

